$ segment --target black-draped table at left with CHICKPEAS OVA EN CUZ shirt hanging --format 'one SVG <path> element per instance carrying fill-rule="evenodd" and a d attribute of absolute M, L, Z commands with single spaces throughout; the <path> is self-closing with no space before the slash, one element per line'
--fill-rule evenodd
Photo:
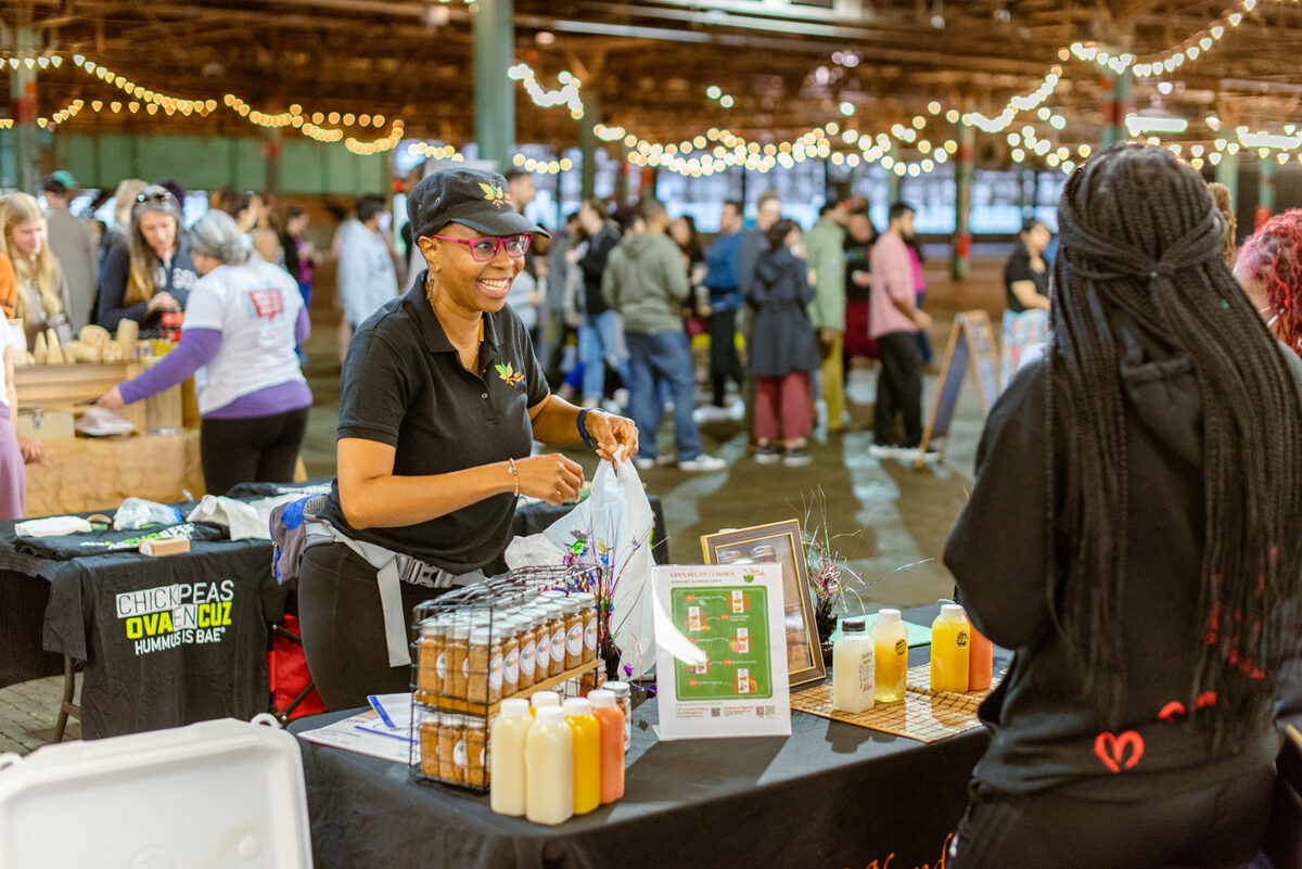
<path fill-rule="evenodd" d="M 319 483 L 328 480 L 302 485 Z M 184 514 L 193 503 L 180 506 Z M 522 503 L 514 531 L 542 531 L 569 509 Z M 651 509 L 652 553 L 665 563 L 654 496 Z M 267 628 L 285 601 L 270 540 L 197 541 L 165 558 L 120 552 L 57 561 L 18 552 L 14 524 L 0 522 L 0 687 L 60 673 L 65 654 L 83 661 L 87 739 L 267 712 Z M 184 606 L 194 623 L 163 630 L 151 608 L 164 602 Z"/>

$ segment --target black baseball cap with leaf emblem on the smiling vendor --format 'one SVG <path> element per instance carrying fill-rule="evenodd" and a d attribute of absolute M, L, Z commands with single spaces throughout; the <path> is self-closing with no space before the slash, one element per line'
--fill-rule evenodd
<path fill-rule="evenodd" d="M 426 176 L 408 196 L 413 238 L 434 235 L 448 224 L 462 224 L 486 235 L 533 233 L 551 238 L 516 211 L 510 187 L 496 172 L 440 169 Z"/>

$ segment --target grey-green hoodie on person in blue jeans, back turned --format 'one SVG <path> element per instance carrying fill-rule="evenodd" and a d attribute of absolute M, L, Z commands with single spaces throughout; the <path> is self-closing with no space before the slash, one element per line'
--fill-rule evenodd
<path fill-rule="evenodd" d="M 624 316 L 629 332 L 681 332 L 690 291 L 682 251 L 664 233 L 625 238 L 602 274 L 602 297 Z"/>

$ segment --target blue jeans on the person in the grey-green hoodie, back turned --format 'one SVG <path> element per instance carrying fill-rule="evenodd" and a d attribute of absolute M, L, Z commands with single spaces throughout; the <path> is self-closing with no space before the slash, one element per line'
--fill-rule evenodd
<path fill-rule="evenodd" d="M 700 432 L 691 421 L 697 395 L 687 333 L 681 329 L 626 332 L 624 340 L 629 343 L 629 416 L 638 427 L 638 454 L 655 458 L 655 436 L 664 414 L 661 384 L 665 384 L 673 395 L 673 440 L 678 445 L 678 461 L 697 458 Z"/>

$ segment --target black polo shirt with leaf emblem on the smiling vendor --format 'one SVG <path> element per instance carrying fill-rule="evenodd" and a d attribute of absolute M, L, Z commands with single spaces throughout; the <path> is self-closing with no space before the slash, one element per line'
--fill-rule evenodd
<path fill-rule="evenodd" d="M 529 332 L 510 307 L 484 314 L 479 372 L 466 371 L 424 297 L 424 281 L 421 272 L 405 295 L 385 303 L 353 336 L 340 376 L 337 437 L 393 446 L 397 476 L 527 457 L 534 436 L 529 408 L 548 392 Z M 514 514 L 516 497 L 506 493 L 415 526 L 359 531 L 344 519 L 339 477 L 323 511 L 354 540 L 454 574 L 496 562 Z"/>

